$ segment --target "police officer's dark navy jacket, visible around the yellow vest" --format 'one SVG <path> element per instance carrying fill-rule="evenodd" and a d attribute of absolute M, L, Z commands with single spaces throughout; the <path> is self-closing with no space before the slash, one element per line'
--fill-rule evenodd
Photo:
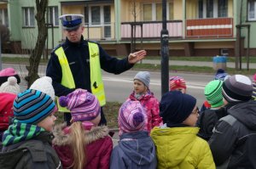
<path fill-rule="evenodd" d="M 64 49 L 73 74 L 75 87 L 83 88 L 90 92 L 90 55 L 88 42 L 84 41 L 84 37 L 81 37 L 79 43 L 73 43 L 66 39 L 66 42 L 62 43 L 57 48 L 59 47 Z M 125 70 L 131 69 L 133 66 L 128 63 L 127 58 L 116 59 L 110 57 L 100 46 L 99 51 L 102 70 L 108 71 L 109 73 L 119 74 Z M 49 59 L 46 69 L 46 76 L 52 78 L 56 96 L 66 96 L 68 93 L 73 92 L 73 88 L 70 89 L 61 85 L 61 65 L 59 59 L 55 55 L 55 50 L 51 53 L 51 58 Z"/>

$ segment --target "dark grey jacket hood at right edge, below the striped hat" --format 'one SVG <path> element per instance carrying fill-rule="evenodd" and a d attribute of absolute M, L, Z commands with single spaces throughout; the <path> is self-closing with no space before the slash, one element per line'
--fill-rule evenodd
<path fill-rule="evenodd" d="M 234 105 L 228 110 L 228 114 L 236 117 L 238 121 L 253 131 L 256 130 L 256 102 L 254 100 Z"/>

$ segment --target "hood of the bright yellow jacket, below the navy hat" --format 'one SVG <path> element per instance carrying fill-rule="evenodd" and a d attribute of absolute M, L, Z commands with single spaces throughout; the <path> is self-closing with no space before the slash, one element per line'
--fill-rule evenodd
<path fill-rule="evenodd" d="M 157 158 L 162 166 L 178 166 L 195 144 L 198 127 L 154 127 L 151 137 L 157 148 Z"/>

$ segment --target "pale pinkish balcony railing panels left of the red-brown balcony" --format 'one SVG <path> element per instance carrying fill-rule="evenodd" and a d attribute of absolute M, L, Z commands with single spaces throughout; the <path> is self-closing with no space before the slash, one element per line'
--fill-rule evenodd
<path fill-rule="evenodd" d="M 144 21 L 144 22 L 123 22 L 121 23 L 121 39 L 131 38 L 131 25 L 136 25 L 136 37 L 143 39 L 160 39 L 160 31 L 162 30 L 161 21 Z M 143 26 L 143 29 L 141 28 Z M 183 22 L 182 20 L 170 20 L 166 23 L 166 28 L 169 31 L 169 37 L 183 37 Z M 142 32 L 143 31 L 143 32 Z M 142 36 L 143 35 L 143 36 Z"/>

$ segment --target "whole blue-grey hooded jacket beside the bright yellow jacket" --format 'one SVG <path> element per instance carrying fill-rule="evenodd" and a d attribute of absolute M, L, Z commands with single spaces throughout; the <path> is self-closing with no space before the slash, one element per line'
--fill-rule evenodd
<path fill-rule="evenodd" d="M 148 132 L 126 132 L 120 136 L 110 160 L 110 169 L 155 169 L 155 147 Z"/>

